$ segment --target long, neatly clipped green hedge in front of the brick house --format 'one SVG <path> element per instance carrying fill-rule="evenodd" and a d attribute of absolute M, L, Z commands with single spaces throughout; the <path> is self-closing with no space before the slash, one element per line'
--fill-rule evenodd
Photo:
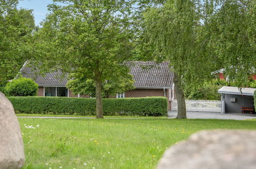
<path fill-rule="evenodd" d="M 8 97 L 15 113 L 95 115 L 93 98 Z M 103 99 L 104 115 L 166 116 L 166 97 Z"/>

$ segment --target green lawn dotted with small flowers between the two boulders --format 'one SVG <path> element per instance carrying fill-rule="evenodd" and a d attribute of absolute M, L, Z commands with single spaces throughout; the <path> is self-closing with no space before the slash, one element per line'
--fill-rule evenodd
<path fill-rule="evenodd" d="M 167 147 L 195 132 L 256 129 L 255 120 L 18 120 L 25 145 L 23 168 L 154 168 Z M 25 128 L 25 124 L 35 129 Z"/>

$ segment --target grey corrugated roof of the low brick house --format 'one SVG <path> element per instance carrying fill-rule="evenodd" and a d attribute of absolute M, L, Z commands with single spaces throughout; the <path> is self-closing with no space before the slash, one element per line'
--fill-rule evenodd
<path fill-rule="evenodd" d="M 171 88 L 173 73 L 170 72 L 169 62 L 156 64 L 153 61 L 130 61 L 127 62 L 130 74 L 133 75 L 136 88 Z M 21 70 L 24 77 L 35 80 L 38 86 L 66 86 L 68 81 L 66 73 L 64 78 L 60 70 L 46 73 L 45 76 L 35 75 L 34 69 L 26 64 Z"/>

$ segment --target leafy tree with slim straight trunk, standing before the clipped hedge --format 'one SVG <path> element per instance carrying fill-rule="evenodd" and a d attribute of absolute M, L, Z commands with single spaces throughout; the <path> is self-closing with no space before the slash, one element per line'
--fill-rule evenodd
<path fill-rule="evenodd" d="M 132 1 L 54 1 L 51 13 L 38 31 L 36 42 L 41 68 L 61 69 L 93 79 L 96 91 L 96 118 L 103 118 L 102 83 L 122 78 L 129 69 L 130 7 Z M 42 52 L 43 51 L 43 52 Z"/>

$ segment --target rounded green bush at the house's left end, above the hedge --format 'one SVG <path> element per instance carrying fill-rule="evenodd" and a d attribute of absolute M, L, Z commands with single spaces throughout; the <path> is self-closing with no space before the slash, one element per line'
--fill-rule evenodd
<path fill-rule="evenodd" d="M 8 96 L 35 96 L 38 85 L 31 78 L 17 78 L 7 83 L 5 92 Z"/>

